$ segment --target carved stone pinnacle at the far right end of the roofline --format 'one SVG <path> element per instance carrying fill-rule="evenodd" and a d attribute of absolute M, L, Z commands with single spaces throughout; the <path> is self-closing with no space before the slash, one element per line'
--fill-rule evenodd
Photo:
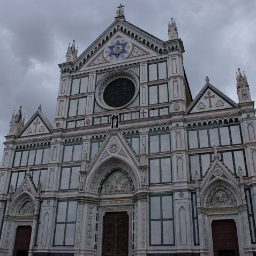
<path fill-rule="evenodd" d="M 245 73 L 243 76 L 239 68 L 236 72 L 236 87 L 237 87 L 237 95 L 238 95 L 239 103 L 252 101 L 249 85 L 247 82 L 247 77 Z"/>

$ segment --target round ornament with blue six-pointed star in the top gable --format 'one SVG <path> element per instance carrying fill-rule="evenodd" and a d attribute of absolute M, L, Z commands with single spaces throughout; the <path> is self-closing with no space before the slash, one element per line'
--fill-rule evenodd
<path fill-rule="evenodd" d="M 110 46 L 107 46 L 104 49 L 103 55 L 104 58 L 110 62 L 119 61 L 125 59 L 130 55 L 132 50 L 132 43 L 124 39 L 123 37 L 119 37 L 115 41 L 110 43 Z"/>

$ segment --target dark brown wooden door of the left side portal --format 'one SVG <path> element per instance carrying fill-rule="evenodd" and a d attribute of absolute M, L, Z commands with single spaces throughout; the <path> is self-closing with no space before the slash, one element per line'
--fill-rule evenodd
<path fill-rule="evenodd" d="M 31 226 L 19 226 L 16 230 L 13 256 L 27 256 L 31 238 Z"/>

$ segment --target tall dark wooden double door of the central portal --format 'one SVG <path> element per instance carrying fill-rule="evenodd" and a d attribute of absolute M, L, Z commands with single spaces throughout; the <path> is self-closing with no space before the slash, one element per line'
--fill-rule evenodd
<path fill-rule="evenodd" d="M 103 217 L 102 256 L 128 256 L 129 216 L 126 212 Z"/>

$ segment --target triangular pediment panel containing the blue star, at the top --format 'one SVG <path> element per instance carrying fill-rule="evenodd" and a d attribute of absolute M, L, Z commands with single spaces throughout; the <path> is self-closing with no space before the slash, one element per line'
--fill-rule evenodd
<path fill-rule="evenodd" d="M 144 44 L 132 39 L 126 34 L 118 31 L 111 40 L 97 51 L 95 56 L 85 63 L 81 71 L 90 66 L 102 66 L 104 64 L 119 63 L 130 59 L 137 59 L 141 56 L 159 55 L 154 50 L 144 46 Z"/>

